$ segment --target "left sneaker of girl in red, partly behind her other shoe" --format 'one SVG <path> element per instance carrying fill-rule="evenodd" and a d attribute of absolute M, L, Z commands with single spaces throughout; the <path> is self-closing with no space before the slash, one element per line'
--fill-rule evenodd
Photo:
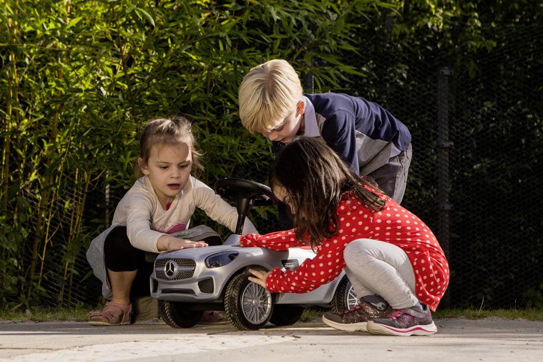
<path fill-rule="evenodd" d="M 361 300 L 360 304 L 342 313 L 326 312 L 323 322 L 340 331 L 367 332 L 366 325 L 370 319 L 384 317 L 392 313 L 392 308 L 387 304 L 386 310 L 379 310 L 372 304 Z"/>

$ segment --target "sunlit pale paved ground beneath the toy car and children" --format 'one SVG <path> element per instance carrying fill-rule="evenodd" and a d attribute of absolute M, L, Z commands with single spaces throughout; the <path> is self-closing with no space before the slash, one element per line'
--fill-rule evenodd
<path fill-rule="evenodd" d="M 543 361 L 543 321 L 435 320 L 431 336 L 342 332 L 320 320 L 239 332 L 232 325 L 174 329 L 161 322 L 93 327 L 0 321 L 4 361 Z"/>

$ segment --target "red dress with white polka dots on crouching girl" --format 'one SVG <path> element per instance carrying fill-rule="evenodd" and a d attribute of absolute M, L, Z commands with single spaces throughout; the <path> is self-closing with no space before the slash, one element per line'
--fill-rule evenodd
<path fill-rule="evenodd" d="M 374 239 L 406 252 L 415 273 L 415 292 L 422 304 L 437 308 L 449 284 L 449 264 L 434 234 L 418 217 L 388 199 L 383 211 L 374 211 L 352 194 L 343 195 L 337 208 L 338 233 L 323 239 L 317 255 L 295 270 L 275 268 L 266 280 L 272 293 L 307 293 L 333 281 L 345 268 L 343 250 L 353 240 Z M 294 230 L 240 237 L 243 246 L 286 250 L 306 245 Z"/>

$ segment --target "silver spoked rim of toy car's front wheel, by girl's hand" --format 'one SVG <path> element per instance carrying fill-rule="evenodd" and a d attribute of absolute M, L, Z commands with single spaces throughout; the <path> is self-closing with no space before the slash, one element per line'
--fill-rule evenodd
<path fill-rule="evenodd" d="M 247 284 L 241 297 L 243 316 L 249 322 L 258 325 L 271 313 L 271 293 L 255 283 Z"/>

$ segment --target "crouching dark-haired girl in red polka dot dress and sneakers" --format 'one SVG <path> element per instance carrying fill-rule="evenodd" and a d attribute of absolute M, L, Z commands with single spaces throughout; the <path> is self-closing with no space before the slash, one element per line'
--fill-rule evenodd
<path fill-rule="evenodd" d="M 274 194 L 294 215 L 294 229 L 247 234 L 240 246 L 311 245 L 317 252 L 298 269 L 250 270 L 249 280 L 272 293 L 307 293 L 345 269 L 359 304 L 323 321 L 344 331 L 427 335 L 449 284 L 449 265 L 434 234 L 418 217 L 359 177 L 319 138 L 299 137 L 269 172 Z"/>

